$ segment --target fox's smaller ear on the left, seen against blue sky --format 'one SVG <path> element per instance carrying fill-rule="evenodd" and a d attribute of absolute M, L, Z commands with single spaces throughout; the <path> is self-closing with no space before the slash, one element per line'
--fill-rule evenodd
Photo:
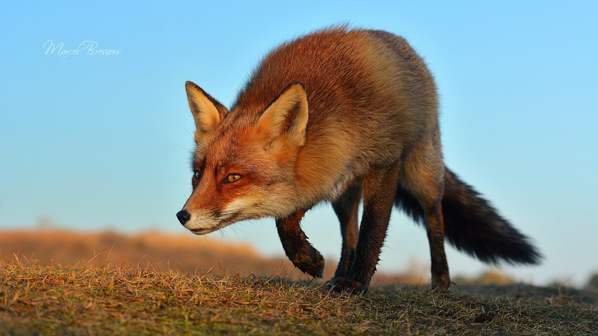
<path fill-rule="evenodd" d="M 196 142 L 199 142 L 204 135 L 218 127 L 222 119 L 226 117 L 228 110 L 193 82 L 185 83 L 185 90 L 187 90 L 187 100 L 189 100 L 191 114 L 195 120 L 195 139 Z"/>

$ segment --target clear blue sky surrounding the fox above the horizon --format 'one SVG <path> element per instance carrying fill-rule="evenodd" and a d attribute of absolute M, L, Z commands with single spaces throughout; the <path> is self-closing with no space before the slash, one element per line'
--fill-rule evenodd
<path fill-rule="evenodd" d="M 230 105 L 270 48 L 340 22 L 405 36 L 441 94 L 447 165 L 547 256 L 507 267 L 546 283 L 598 271 L 598 2 L 103 2 L 0 5 L 0 228 L 41 217 L 77 230 L 159 228 L 190 194 L 187 80 Z M 45 54 L 82 41 L 118 55 Z M 329 206 L 304 227 L 337 256 Z M 209 239 L 280 253 L 273 222 Z M 203 239 L 198 237 L 198 239 Z M 393 213 L 380 268 L 428 261 L 422 228 Z M 449 251 L 452 275 L 484 266 Z"/>

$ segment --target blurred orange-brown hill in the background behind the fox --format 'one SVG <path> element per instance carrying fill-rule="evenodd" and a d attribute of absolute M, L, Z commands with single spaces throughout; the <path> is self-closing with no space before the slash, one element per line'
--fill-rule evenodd
<path fill-rule="evenodd" d="M 145 232 L 133 235 L 102 232 L 77 233 L 44 227 L 33 231 L 0 231 L 0 256 L 14 259 L 14 253 L 25 262 L 39 265 L 105 265 L 108 262 L 124 267 L 178 269 L 188 273 L 222 271 L 255 274 L 260 277 L 282 277 L 289 280 L 310 280 L 312 277 L 295 268 L 286 256 L 266 258 L 251 246 L 217 242 L 188 235 Z M 100 253 L 101 252 L 101 253 Z M 100 253 L 93 260 L 94 253 Z M 327 260 L 324 280 L 334 276 L 337 261 Z M 405 273 L 377 273 L 372 285 L 395 283 L 422 284 L 428 282 L 426 265 L 413 263 Z"/>

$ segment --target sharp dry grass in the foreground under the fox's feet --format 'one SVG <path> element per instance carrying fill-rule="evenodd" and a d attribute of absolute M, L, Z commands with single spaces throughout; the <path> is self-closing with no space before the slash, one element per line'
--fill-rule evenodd
<path fill-rule="evenodd" d="M 3 262 L 0 270 L 0 330 L 5 335 L 595 335 L 598 308 L 565 294 L 484 298 L 411 286 L 361 297 L 253 276 L 13 261 Z"/>

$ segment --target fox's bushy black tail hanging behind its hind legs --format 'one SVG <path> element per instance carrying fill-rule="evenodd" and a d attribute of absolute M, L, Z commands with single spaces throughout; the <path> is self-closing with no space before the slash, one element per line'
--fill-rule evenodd
<path fill-rule="evenodd" d="M 419 202 L 401 187 L 395 204 L 416 221 L 423 218 Z M 459 251 L 488 264 L 538 264 L 542 258 L 526 236 L 449 169 L 444 175 L 442 209 L 445 237 Z"/>

